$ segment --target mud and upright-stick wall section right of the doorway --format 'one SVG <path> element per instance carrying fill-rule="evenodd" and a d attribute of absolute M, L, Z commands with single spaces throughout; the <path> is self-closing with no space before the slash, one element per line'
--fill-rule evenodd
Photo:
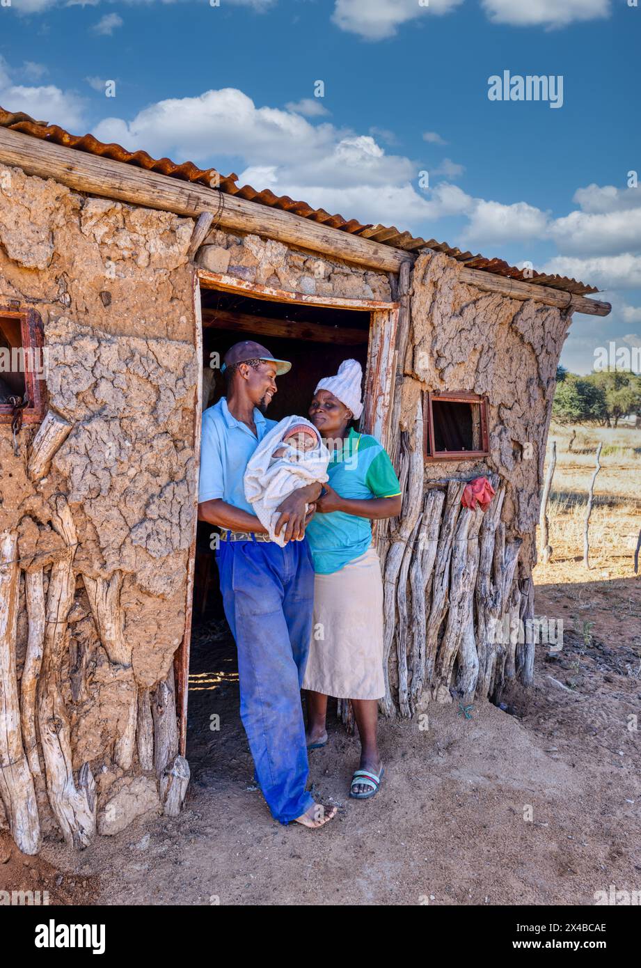
<path fill-rule="evenodd" d="M 511 683 L 533 677 L 534 643 L 522 633 L 534 616 L 539 488 L 570 318 L 464 285 L 461 268 L 424 252 L 408 293 L 398 408 L 403 511 L 379 542 L 388 715 L 413 715 L 430 699 L 498 702 Z M 426 391 L 486 398 L 488 456 L 423 460 Z M 496 492 L 484 514 L 461 504 L 465 482 L 481 475 Z"/>

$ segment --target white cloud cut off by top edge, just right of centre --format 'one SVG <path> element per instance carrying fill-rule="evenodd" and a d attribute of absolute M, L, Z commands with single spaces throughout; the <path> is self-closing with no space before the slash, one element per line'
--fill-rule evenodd
<path fill-rule="evenodd" d="M 358 34 L 365 41 L 393 37 L 397 27 L 417 17 L 449 14 L 462 0 L 335 0 L 332 20 L 341 30 Z"/>

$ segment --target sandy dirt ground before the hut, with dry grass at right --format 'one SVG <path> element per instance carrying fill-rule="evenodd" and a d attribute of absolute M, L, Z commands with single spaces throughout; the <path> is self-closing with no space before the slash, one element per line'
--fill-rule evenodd
<path fill-rule="evenodd" d="M 610 885 L 641 890 L 641 577 L 628 541 L 641 509 L 623 494 L 635 494 L 640 464 L 624 443 L 597 478 L 590 571 L 592 458 L 583 470 L 573 455 L 560 461 L 554 557 L 535 581 L 536 614 L 563 620 L 564 645 L 538 647 L 533 689 L 514 687 L 505 709 L 476 704 L 470 718 L 455 700 L 432 704 L 427 729 L 382 721 L 386 773 L 366 802 L 348 796 L 358 741 L 333 719 L 310 779 L 318 800 L 337 805 L 335 820 L 283 827 L 252 783 L 233 643 L 209 620 L 192 644 L 181 816 L 147 815 L 80 854 L 47 841 L 23 858 L 0 834 L 0 890 L 110 905 L 566 905 L 594 904 Z"/>

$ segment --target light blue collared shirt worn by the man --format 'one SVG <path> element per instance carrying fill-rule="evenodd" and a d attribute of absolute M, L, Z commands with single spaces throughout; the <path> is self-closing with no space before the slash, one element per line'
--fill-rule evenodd
<path fill-rule="evenodd" d="M 232 416 L 225 397 L 203 413 L 198 503 L 219 498 L 254 514 L 245 497 L 243 477 L 249 458 L 277 421 L 268 420 L 255 407 L 253 419 L 257 437 L 247 424 Z"/>

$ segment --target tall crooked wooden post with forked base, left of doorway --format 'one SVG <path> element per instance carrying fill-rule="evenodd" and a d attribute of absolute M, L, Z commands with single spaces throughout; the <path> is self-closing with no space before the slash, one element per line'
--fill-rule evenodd
<path fill-rule="evenodd" d="M 75 590 L 76 531 L 67 500 L 58 495 L 55 504 L 51 525 L 65 542 L 67 552 L 53 563 L 49 576 L 38 717 L 51 809 L 68 846 L 82 848 L 89 845 L 96 832 L 96 789 L 87 763 L 80 769 L 77 787 L 73 781 L 71 728 L 60 683 L 67 617 Z"/>

